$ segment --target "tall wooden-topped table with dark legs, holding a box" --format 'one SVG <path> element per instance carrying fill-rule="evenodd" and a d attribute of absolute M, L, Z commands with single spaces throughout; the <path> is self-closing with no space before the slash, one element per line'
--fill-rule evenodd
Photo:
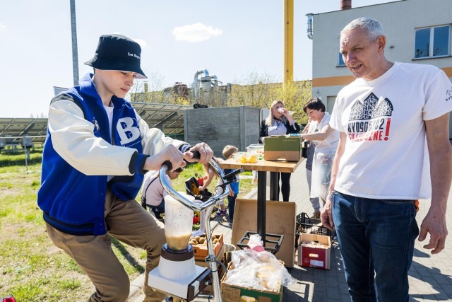
<path fill-rule="evenodd" d="M 293 173 L 298 168 L 300 161 L 265 161 L 257 163 L 241 163 L 237 159 L 230 158 L 219 163 L 223 169 L 256 170 L 257 176 L 257 233 L 266 242 L 266 201 L 267 201 L 267 172 L 270 172 L 270 200 L 278 201 L 278 173 Z"/>

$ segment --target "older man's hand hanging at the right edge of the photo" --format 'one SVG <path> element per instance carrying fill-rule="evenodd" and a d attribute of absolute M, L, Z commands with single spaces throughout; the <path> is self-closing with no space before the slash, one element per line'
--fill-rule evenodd
<path fill-rule="evenodd" d="M 446 215 L 445 213 L 441 213 L 441 211 L 432 209 L 432 207 L 421 223 L 418 240 L 421 242 L 424 241 L 428 233 L 430 233 L 429 244 L 424 245 L 423 248 L 433 249 L 432 254 L 437 254 L 441 250 L 444 250 L 447 237 Z"/>

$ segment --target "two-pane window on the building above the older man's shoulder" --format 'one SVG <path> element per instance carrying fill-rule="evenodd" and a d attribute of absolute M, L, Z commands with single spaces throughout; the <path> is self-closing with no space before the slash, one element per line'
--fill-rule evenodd
<path fill-rule="evenodd" d="M 415 33 L 415 58 L 444 57 L 450 54 L 451 25 L 420 28 Z"/>

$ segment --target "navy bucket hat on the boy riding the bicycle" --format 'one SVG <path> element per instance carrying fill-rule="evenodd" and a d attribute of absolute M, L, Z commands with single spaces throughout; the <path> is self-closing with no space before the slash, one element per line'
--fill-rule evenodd
<path fill-rule="evenodd" d="M 124 35 L 101 35 L 97 50 L 86 65 L 101 70 L 135 72 L 138 79 L 147 79 L 141 70 L 141 47 Z"/>

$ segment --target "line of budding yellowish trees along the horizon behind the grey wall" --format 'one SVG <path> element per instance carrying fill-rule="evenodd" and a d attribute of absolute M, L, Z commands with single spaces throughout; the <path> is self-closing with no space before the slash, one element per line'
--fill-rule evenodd
<path fill-rule="evenodd" d="M 192 89 L 180 83 L 162 89 L 163 77 L 157 72 L 145 72 L 146 80 L 136 80 L 129 91 L 134 102 L 191 105 L 194 102 Z M 280 79 L 270 74 L 251 72 L 235 80 L 231 86 L 215 86 L 208 93 L 200 93 L 200 103 L 209 107 L 249 106 L 268 108 L 273 100 L 283 100 L 285 107 L 295 112 L 292 116 L 297 122 L 307 123 L 303 105 L 311 98 L 311 81 L 294 81 L 284 89 Z M 279 82 L 279 83 L 278 83 Z"/>

